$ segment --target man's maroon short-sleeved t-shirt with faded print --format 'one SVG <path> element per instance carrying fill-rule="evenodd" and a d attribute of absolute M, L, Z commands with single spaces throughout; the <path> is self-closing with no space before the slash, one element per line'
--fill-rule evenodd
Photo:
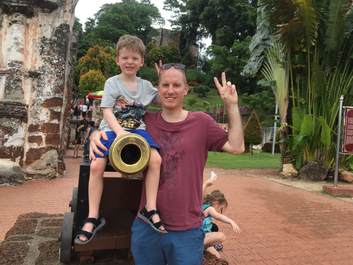
<path fill-rule="evenodd" d="M 143 120 L 161 148 L 157 209 L 166 229 L 188 230 L 202 225 L 203 170 L 208 151 L 220 151 L 228 141 L 226 131 L 203 112 L 189 112 L 185 120 L 177 123 L 166 122 L 161 112 L 146 112 Z M 145 205 L 143 187 L 139 211 Z"/>

